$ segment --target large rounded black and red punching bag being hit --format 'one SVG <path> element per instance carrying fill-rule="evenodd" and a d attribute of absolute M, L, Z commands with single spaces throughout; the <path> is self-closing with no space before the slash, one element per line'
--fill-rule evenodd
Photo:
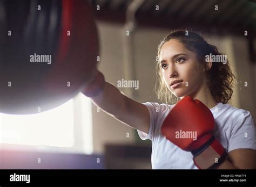
<path fill-rule="evenodd" d="M 53 109 L 96 74 L 98 35 L 84 0 L 0 0 L 0 112 Z"/>

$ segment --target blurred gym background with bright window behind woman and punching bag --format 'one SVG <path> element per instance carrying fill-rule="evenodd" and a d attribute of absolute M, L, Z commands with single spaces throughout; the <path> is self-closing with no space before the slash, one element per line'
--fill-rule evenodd
<path fill-rule="evenodd" d="M 256 119 L 256 2 L 247 0 L 95 0 L 99 70 L 127 97 L 157 102 L 157 46 L 171 30 L 192 29 L 225 53 L 237 83 L 230 104 Z M 138 81 L 122 88 L 118 81 Z M 118 110 L 118 109 L 117 109 Z M 254 120 L 255 121 L 255 120 Z M 151 141 L 82 93 L 56 109 L 0 113 L 1 169 L 151 169 Z"/>

